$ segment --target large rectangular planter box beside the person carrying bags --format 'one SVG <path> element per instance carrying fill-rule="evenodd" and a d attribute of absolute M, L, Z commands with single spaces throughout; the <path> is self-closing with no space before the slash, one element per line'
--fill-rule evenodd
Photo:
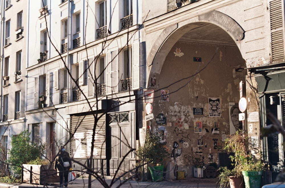
<path fill-rule="evenodd" d="M 23 182 L 44 185 L 59 182 L 59 176 L 50 165 L 23 164 Z"/>

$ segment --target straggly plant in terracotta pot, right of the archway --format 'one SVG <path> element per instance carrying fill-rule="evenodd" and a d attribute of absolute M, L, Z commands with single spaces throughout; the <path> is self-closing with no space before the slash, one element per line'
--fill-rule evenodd
<path fill-rule="evenodd" d="M 247 137 L 240 132 L 229 135 L 225 140 L 225 149 L 228 153 L 234 152 L 234 155 L 230 155 L 229 158 L 233 167 L 220 167 L 218 176 L 218 183 L 221 187 L 227 187 L 230 185 L 233 187 L 245 187 L 242 175 L 242 165 L 245 163 L 243 156 L 247 155 Z"/>

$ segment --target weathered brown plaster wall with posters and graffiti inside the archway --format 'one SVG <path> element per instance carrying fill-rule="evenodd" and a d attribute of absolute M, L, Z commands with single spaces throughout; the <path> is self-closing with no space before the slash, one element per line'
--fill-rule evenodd
<path fill-rule="evenodd" d="M 201 62 L 194 62 L 194 57 L 200 57 Z M 235 71 L 241 65 L 245 66 L 245 60 L 237 47 L 217 49 L 216 46 L 177 42 L 167 55 L 160 74 L 152 75 L 156 77 L 152 130 L 165 128 L 165 141 L 170 151 L 174 149 L 173 144 L 178 143 L 175 148 L 178 170 L 186 170 L 189 176 L 195 157 L 202 159 L 204 156 L 205 164 L 219 163 L 222 140 L 229 134 L 229 102 L 239 102 L 239 82 L 245 80 L 246 70 Z M 162 89 L 169 90 L 169 102 L 161 100 Z M 209 117 L 209 98 L 220 99 L 220 117 Z M 193 108 L 203 108 L 203 114 L 194 115 Z M 156 116 L 160 113 L 166 117 L 164 125 L 156 124 Z M 202 122 L 202 130 L 198 133 L 194 132 L 196 120 Z M 212 133 L 214 126 L 216 132 Z M 203 144 L 198 145 L 201 136 Z"/>

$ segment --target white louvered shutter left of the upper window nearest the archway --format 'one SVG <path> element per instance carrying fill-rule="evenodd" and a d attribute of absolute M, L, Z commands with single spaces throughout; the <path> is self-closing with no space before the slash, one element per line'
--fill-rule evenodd
<path fill-rule="evenodd" d="M 107 80 L 106 80 L 106 91 L 107 94 L 117 93 L 118 92 L 118 72 L 119 72 L 119 58 L 118 58 L 118 50 L 107 52 L 106 54 L 107 60 Z"/>

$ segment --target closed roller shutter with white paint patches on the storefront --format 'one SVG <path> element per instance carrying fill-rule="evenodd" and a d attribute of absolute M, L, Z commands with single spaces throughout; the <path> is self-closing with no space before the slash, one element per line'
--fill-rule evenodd
<path fill-rule="evenodd" d="M 98 114 L 98 117 L 102 114 Z M 73 158 L 87 158 L 91 153 L 91 142 L 95 118 L 93 114 L 71 116 L 71 139 L 70 148 Z M 76 130 L 76 131 L 75 131 Z M 94 141 L 94 159 L 106 158 L 106 125 L 105 115 L 96 124 Z"/>

